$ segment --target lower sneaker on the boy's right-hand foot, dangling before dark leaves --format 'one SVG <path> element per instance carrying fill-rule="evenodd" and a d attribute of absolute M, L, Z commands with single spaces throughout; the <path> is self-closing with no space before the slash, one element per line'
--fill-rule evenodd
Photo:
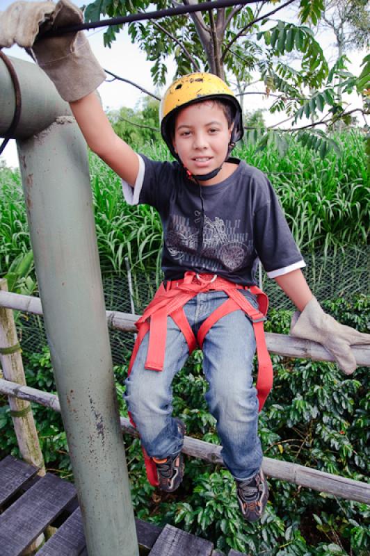
<path fill-rule="evenodd" d="M 268 484 L 262 469 L 251 479 L 235 482 L 243 518 L 246 521 L 258 521 L 262 518 L 268 500 Z"/>

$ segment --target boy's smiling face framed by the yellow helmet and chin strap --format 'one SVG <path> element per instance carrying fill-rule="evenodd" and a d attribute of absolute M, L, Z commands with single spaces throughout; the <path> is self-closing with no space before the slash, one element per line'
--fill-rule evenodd
<path fill-rule="evenodd" d="M 173 147 L 192 174 L 208 174 L 225 161 L 230 136 L 223 109 L 214 101 L 203 101 L 186 106 L 177 114 Z M 222 181 L 222 172 L 202 181 L 202 185 Z"/>

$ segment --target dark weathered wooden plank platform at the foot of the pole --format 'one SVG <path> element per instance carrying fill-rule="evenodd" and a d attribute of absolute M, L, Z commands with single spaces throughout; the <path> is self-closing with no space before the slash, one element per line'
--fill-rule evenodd
<path fill-rule="evenodd" d="M 10 456 L 0 461 L 1 556 L 21 556 L 56 518 L 58 531 L 37 554 L 88 556 L 81 512 L 79 507 L 75 509 L 77 493 L 74 485 L 47 473 L 30 486 L 37 471 Z M 162 529 L 140 519 L 135 521 L 139 546 L 149 551 L 150 556 L 221 556 L 210 541 L 172 525 Z M 228 556 L 247 555 L 231 550 Z"/>

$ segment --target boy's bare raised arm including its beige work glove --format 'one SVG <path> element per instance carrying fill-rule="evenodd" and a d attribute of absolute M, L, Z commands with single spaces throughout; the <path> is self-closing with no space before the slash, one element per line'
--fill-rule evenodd
<path fill-rule="evenodd" d="M 69 0 L 30 3 L 18 1 L 0 13 L 0 48 L 18 44 L 31 50 L 61 97 L 70 103 L 90 149 L 120 177 L 134 187 L 138 156 L 115 135 L 95 95 L 106 75 L 90 49 L 85 35 L 68 33 L 42 40 L 50 26 L 67 26 L 83 21 L 81 10 Z"/>

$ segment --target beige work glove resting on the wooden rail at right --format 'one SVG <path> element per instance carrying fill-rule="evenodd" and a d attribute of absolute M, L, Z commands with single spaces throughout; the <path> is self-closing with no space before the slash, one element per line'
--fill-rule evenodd
<path fill-rule="evenodd" d="M 346 375 L 352 375 L 357 367 L 351 345 L 370 344 L 370 334 L 339 324 L 323 311 L 316 297 L 312 297 L 302 313 L 296 311 L 293 314 L 290 334 L 321 343 Z"/>

